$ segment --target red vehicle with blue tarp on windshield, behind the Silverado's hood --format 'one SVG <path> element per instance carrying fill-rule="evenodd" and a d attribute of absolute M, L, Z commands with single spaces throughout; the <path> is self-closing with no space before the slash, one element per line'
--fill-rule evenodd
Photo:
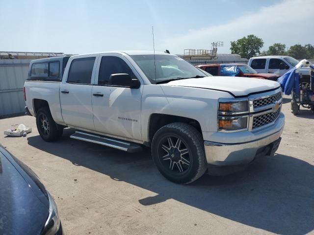
<path fill-rule="evenodd" d="M 210 64 L 197 65 L 196 67 L 209 72 L 213 76 L 253 77 L 276 81 L 279 75 L 258 73 L 245 64 Z"/>

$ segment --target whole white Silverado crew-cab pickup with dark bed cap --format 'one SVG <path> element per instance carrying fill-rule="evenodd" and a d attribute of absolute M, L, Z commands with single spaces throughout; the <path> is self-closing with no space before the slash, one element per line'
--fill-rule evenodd
<path fill-rule="evenodd" d="M 149 146 L 163 176 L 188 184 L 212 168 L 272 155 L 285 123 L 277 82 L 208 75 L 163 52 L 34 60 L 26 112 L 45 141 L 71 127 L 77 140 L 127 152 Z"/>

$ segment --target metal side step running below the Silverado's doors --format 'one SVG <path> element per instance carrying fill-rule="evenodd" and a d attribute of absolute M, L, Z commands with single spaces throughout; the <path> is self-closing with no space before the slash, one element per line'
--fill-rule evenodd
<path fill-rule="evenodd" d="M 92 143 L 98 143 L 108 147 L 120 149 L 129 153 L 135 153 L 142 150 L 142 147 L 136 143 L 130 143 L 127 141 L 121 141 L 116 139 L 111 139 L 108 137 L 99 136 L 96 134 L 91 134 L 83 131 L 76 131 L 73 135 L 70 136 L 72 139 L 87 141 Z"/>

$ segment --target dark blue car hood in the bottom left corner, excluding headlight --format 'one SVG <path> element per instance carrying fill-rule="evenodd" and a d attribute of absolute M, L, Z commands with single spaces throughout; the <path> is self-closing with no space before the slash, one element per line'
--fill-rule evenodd
<path fill-rule="evenodd" d="M 0 147 L 1 235 L 37 235 L 47 220 L 49 201 L 45 201 L 45 195 L 38 196 L 36 184 L 30 182 L 25 173 L 12 156 Z"/>

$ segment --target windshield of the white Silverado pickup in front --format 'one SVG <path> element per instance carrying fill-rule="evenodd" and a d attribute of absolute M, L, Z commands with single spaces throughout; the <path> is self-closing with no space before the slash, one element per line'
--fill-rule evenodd
<path fill-rule="evenodd" d="M 153 54 L 131 55 L 131 58 L 153 84 L 208 76 L 203 71 L 175 55 L 155 55 L 155 61 Z"/>

